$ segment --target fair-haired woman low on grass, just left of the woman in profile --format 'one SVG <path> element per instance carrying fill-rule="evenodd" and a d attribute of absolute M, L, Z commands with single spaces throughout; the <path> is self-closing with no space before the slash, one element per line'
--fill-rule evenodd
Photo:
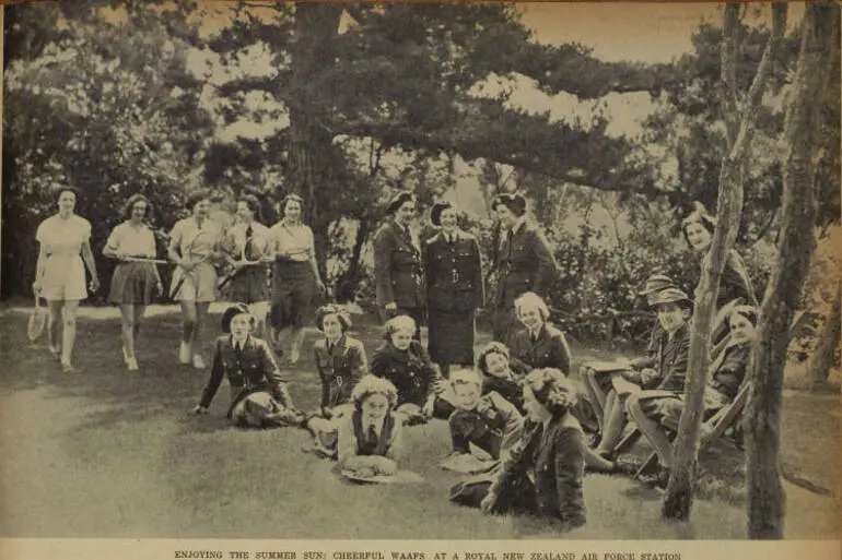
<path fill-rule="evenodd" d="M 498 460 L 521 437 L 523 417 L 495 392 L 482 394 L 478 372 L 460 369 L 451 373 L 456 412 L 447 420 L 455 453 L 470 453 L 471 443 Z"/>

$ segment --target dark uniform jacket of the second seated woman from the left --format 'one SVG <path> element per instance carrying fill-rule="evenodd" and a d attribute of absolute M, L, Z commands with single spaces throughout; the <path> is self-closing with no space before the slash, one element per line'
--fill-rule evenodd
<path fill-rule="evenodd" d="M 313 345 L 313 354 L 321 379 L 321 407 L 335 407 L 351 401 L 351 391 L 369 370 L 363 343 L 342 335 L 328 349 L 327 338 Z"/>

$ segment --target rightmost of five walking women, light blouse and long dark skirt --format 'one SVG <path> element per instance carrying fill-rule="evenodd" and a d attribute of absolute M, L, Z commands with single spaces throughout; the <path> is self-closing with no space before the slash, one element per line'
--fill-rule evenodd
<path fill-rule="evenodd" d="M 318 273 L 313 230 L 301 223 L 304 200 L 290 194 L 281 202 L 283 218 L 269 230 L 272 266 L 271 322 L 276 349 L 280 334 L 290 330 L 290 362 L 297 364 L 304 335 L 304 321 L 318 291 L 325 284 Z"/>

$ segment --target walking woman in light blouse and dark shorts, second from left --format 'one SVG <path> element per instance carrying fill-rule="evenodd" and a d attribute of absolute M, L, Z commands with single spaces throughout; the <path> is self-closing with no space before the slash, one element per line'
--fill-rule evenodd
<path fill-rule="evenodd" d="M 155 235 L 144 223 L 152 213 L 152 204 L 142 194 L 132 194 L 126 201 L 122 215 L 126 222 L 108 236 L 103 254 L 117 259 L 108 300 L 120 307 L 122 319 L 122 360 L 129 371 L 138 371 L 136 343 L 143 312 L 152 300 L 152 287 L 163 294 L 161 276 L 152 262 L 155 258 Z M 133 260 L 138 259 L 138 260 Z"/>

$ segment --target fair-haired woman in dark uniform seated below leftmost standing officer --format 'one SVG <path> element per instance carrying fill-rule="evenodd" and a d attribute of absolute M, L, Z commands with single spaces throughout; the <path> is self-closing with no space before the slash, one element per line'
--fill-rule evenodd
<path fill-rule="evenodd" d="M 420 342 L 413 339 L 416 321 L 397 315 L 386 321 L 386 344 L 372 357 L 372 374 L 389 381 L 398 391 L 398 416 L 404 424 L 423 424 L 448 418 L 453 404 L 438 397 L 443 392 L 438 370 Z"/>

